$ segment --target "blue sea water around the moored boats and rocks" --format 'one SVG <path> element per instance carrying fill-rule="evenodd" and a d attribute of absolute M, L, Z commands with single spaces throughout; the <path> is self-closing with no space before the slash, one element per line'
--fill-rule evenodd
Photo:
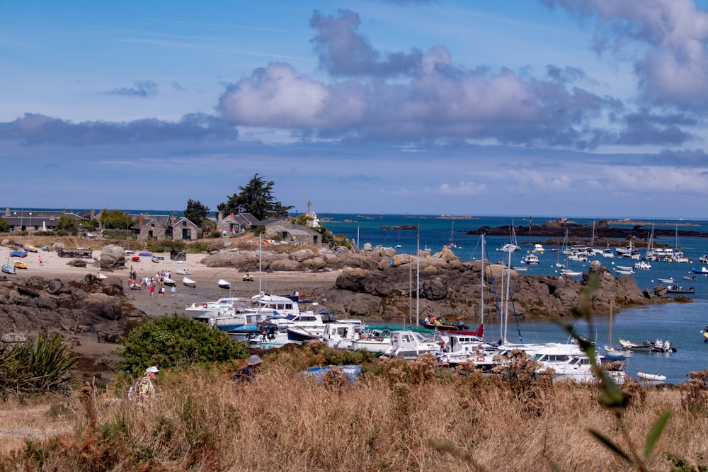
<path fill-rule="evenodd" d="M 318 214 L 322 224 L 334 234 L 343 234 L 350 240 L 359 241 L 359 246 L 371 243 L 372 246 L 396 248 L 396 253 L 416 253 L 417 248 L 430 248 L 437 252 L 442 246 L 455 242 L 457 248 L 452 251 L 461 260 L 472 261 L 481 258 L 481 238 L 477 235 L 464 234 L 465 231 L 478 229 L 481 226 L 503 226 L 509 224 L 528 224 L 529 219 L 518 217 L 479 217 L 471 219 L 447 219 L 435 216 L 409 216 L 409 215 L 375 215 L 375 214 Z M 550 219 L 550 218 L 549 218 Z M 592 219 L 575 219 L 578 223 L 592 226 Z M 546 219 L 532 219 L 533 224 L 542 224 Z M 679 226 L 681 229 L 702 231 L 708 233 L 708 221 L 655 221 L 656 227 L 673 229 L 676 224 L 690 224 Z M 396 226 L 418 225 L 420 231 L 414 229 L 391 229 Z M 649 227 L 649 226 L 648 226 Z M 512 255 L 512 265 L 521 265 L 520 260 L 528 253 L 532 245 L 524 243 L 544 243 L 546 238 L 529 237 L 517 234 L 521 251 Z M 507 253 L 499 251 L 504 244 L 510 241 L 510 236 L 485 236 L 485 257 L 491 262 L 506 262 Z M 689 297 L 694 303 L 658 304 L 636 309 L 624 309 L 615 313 L 612 323 L 612 345 L 619 347 L 617 338 L 631 340 L 634 343 L 643 343 L 645 340 L 655 341 L 657 338 L 670 340 L 677 352 L 649 353 L 635 352 L 627 363 L 627 371 L 634 375 L 636 372 L 666 375 L 667 381 L 672 384 L 683 382 L 687 379 L 688 372 L 697 372 L 708 369 L 708 343 L 703 342 L 700 333 L 708 324 L 708 276 L 692 273 L 692 268 L 702 267 L 698 261 L 701 255 L 708 254 L 708 238 L 657 238 L 658 243 L 677 246 L 692 260 L 692 263 L 666 263 L 651 261 L 651 270 L 636 270 L 634 277 L 639 289 L 653 289 L 658 278 L 673 277 L 683 287 L 695 287 L 696 293 Z M 396 247 L 400 246 L 400 247 Z M 550 252 L 539 255 L 539 265 L 530 266 L 528 275 L 559 275 L 555 263 L 558 255 Z M 640 249 L 641 253 L 641 249 Z M 634 260 L 605 259 L 598 257 L 603 265 L 612 269 L 613 265 L 634 265 Z M 565 261 L 561 261 L 565 262 Z M 570 263 L 574 270 L 586 271 L 591 260 L 587 263 Z M 614 272 L 614 271 L 613 271 Z M 683 280 L 682 277 L 695 275 L 697 280 Z M 666 284 L 664 284 L 666 285 Z M 564 319 L 568 323 L 570 320 Z M 578 323 L 575 326 L 579 334 L 585 335 L 603 347 L 610 341 L 609 316 L 594 316 L 593 326 L 587 323 Z M 498 336 L 501 327 L 498 324 L 487 324 L 486 333 Z M 519 335 L 520 333 L 520 335 Z M 558 324 L 553 322 L 519 321 L 518 328 L 515 321 L 509 321 L 507 339 L 510 342 L 523 340 L 525 343 L 566 342 L 568 335 Z M 600 352 L 602 353 L 602 352 Z"/>

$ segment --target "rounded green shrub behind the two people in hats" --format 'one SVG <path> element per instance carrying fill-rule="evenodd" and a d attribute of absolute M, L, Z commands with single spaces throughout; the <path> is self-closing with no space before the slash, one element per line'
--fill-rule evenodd
<path fill-rule="evenodd" d="M 161 316 L 132 330 L 115 353 L 123 358 L 118 368 L 141 374 L 145 367 L 184 368 L 191 364 L 224 362 L 246 357 L 244 343 L 192 318 Z"/>

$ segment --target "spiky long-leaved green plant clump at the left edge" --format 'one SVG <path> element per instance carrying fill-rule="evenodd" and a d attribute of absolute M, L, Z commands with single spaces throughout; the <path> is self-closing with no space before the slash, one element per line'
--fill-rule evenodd
<path fill-rule="evenodd" d="M 78 357 L 62 343 L 62 335 L 12 347 L 0 347 L 0 395 L 62 391 L 66 376 Z"/>

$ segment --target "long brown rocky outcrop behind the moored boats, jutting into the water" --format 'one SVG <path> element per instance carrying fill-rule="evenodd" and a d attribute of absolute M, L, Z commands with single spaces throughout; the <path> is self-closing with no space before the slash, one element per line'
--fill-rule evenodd
<path fill-rule="evenodd" d="M 415 321 L 430 313 L 457 318 L 469 323 L 481 319 L 481 261 L 462 263 L 452 253 L 421 257 L 420 295 L 416 299 L 416 265 L 414 256 L 400 255 L 381 261 L 375 269 L 350 267 L 343 270 L 336 287 L 326 293 L 328 304 L 341 306 L 350 316 L 392 322 Z M 498 321 L 497 301 L 506 287 L 506 267 L 485 265 L 485 321 Z M 583 280 L 571 277 L 530 276 L 515 270 L 509 272 L 513 310 L 522 318 L 555 318 L 569 316 L 578 306 L 592 313 L 609 313 L 610 300 L 616 309 L 673 301 L 640 291 L 633 277 L 615 278 L 599 261 L 594 261 Z M 590 280 L 597 289 L 581 299 Z"/>

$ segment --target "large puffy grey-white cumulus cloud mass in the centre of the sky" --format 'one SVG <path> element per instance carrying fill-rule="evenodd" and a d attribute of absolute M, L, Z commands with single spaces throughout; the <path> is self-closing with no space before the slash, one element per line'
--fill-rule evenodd
<path fill-rule="evenodd" d="M 615 139 L 590 123 L 621 103 L 559 81 L 582 77 L 579 69 L 544 81 L 510 69 L 457 67 L 442 46 L 383 54 L 358 33 L 360 20 L 350 11 L 315 12 L 312 25 L 324 69 L 352 77 L 326 84 L 289 64 L 268 64 L 224 92 L 219 110 L 227 120 L 352 141 L 495 139 L 591 149 Z"/>

